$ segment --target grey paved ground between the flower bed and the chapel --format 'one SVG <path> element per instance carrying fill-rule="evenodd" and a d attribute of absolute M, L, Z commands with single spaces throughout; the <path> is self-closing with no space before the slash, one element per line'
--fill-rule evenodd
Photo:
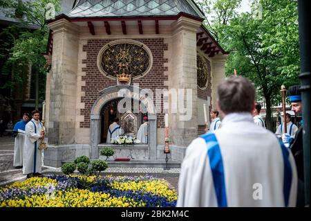
<path fill-rule="evenodd" d="M 0 137 L 0 186 L 5 186 L 13 182 L 26 179 L 23 175 L 22 169 L 15 169 L 13 167 L 14 155 L 14 138 L 11 136 Z M 50 166 L 42 167 L 42 174 L 45 176 L 61 173 L 61 168 L 53 168 Z M 167 180 L 171 188 L 178 187 L 178 177 L 180 168 L 171 168 L 164 170 L 163 168 L 107 168 L 102 175 L 113 176 L 139 176 L 139 175 L 152 175 Z"/>

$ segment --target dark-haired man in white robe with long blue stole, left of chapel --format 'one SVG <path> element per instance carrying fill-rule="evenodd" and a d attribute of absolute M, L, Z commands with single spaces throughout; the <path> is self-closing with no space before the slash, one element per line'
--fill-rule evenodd
<path fill-rule="evenodd" d="M 32 112 L 32 119 L 26 124 L 25 144 L 23 151 L 23 175 L 27 177 L 41 176 L 42 152 L 39 144 L 44 140 L 43 125 L 39 121 L 40 112 Z"/>

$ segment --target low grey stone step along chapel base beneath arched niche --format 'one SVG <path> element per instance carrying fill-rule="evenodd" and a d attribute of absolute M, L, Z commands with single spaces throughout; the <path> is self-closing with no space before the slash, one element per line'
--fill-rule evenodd
<path fill-rule="evenodd" d="M 73 159 L 68 159 L 66 161 L 62 161 L 62 164 L 67 162 L 73 162 Z M 124 168 L 180 168 L 180 162 L 178 161 L 165 161 L 162 160 L 130 160 L 130 161 L 114 161 L 112 159 L 108 159 L 106 161 L 109 167 L 124 167 Z"/>

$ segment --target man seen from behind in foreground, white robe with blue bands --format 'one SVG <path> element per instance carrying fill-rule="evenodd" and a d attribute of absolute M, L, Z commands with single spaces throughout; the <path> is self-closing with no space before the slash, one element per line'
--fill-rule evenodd
<path fill-rule="evenodd" d="M 188 146 L 177 206 L 295 206 L 294 158 L 272 132 L 254 123 L 252 83 L 232 76 L 217 93 L 225 118 L 219 130 Z"/>

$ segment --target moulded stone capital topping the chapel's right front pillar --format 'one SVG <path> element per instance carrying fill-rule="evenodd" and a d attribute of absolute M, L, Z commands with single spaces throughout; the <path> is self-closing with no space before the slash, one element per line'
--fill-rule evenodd
<path fill-rule="evenodd" d="M 187 17 L 180 17 L 177 21 L 174 21 L 173 24 L 171 24 L 171 27 L 173 35 L 179 33 L 181 30 L 196 33 L 201 24 L 201 21 L 196 21 Z"/>

